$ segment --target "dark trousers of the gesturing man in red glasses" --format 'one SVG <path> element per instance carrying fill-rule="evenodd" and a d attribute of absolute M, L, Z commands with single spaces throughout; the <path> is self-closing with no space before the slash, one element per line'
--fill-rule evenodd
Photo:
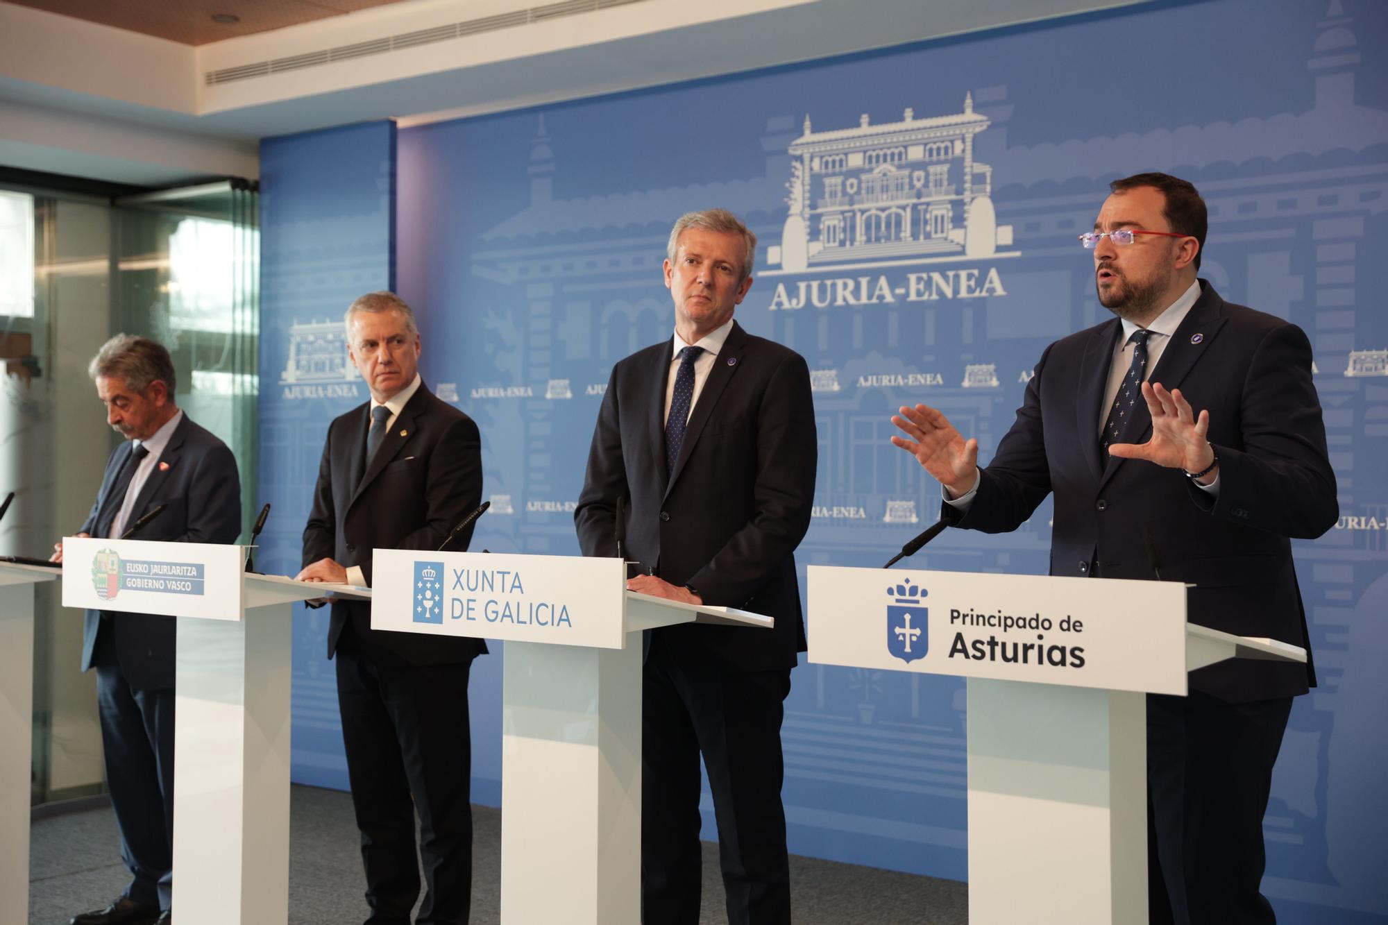
<path fill-rule="evenodd" d="M 1259 893 L 1263 814 L 1292 699 L 1146 699 L 1152 925 L 1276 922 Z"/>

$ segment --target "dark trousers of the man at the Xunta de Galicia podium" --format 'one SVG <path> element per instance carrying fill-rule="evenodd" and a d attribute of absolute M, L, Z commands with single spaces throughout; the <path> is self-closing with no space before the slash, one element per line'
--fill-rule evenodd
<path fill-rule="evenodd" d="M 790 922 L 781 806 L 781 701 L 790 668 L 691 668 L 652 633 L 641 693 L 641 918 L 697 925 L 702 889 L 700 753 L 718 821 L 730 925 Z"/>

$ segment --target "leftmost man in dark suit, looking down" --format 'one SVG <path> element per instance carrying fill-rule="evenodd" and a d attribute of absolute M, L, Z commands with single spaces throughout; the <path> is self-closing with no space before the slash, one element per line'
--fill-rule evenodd
<path fill-rule="evenodd" d="M 136 539 L 235 543 L 242 529 L 236 458 L 174 403 L 169 351 L 146 338 L 117 335 L 87 374 L 107 422 L 128 439 L 107 460 L 78 536 L 119 538 L 164 504 Z M 62 561 L 62 543 L 53 558 Z M 105 779 L 130 883 L 110 907 L 76 915 L 72 925 L 172 919 L 175 654 L 174 617 L 86 612 L 82 671 L 96 668 Z"/>

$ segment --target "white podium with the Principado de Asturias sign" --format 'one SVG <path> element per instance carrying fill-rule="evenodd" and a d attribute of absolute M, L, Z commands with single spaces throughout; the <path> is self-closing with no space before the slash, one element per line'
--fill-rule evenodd
<path fill-rule="evenodd" d="M 1115 601 L 1123 601 L 1122 608 Z M 1185 585 L 809 567 L 809 661 L 967 679 L 969 921 L 1145 924 L 1148 693 L 1226 658 Z"/>

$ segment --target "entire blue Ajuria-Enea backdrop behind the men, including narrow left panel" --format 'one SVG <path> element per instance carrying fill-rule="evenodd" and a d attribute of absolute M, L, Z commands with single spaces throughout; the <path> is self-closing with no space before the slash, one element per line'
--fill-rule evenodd
<path fill-rule="evenodd" d="M 1264 890 L 1289 922 L 1388 921 L 1385 54 L 1378 3 L 1170 3 L 412 128 L 398 162 L 380 125 L 268 143 L 265 561 L 297 567 L 322 432 L 365 399 L 340 329 L 315 322 L 387 285 L 391 256 L 426 381 L 482 428 L 493 507 L 473 546 L 577 553 L 608 372 L 670 333 L 670 222 L 726 206 L 762 239 L 740 322 L 813 371 L 798 561 L 879 565 L 938 497 L 888 444 L 891 411 L 930 401 L 988 458 L 1045 344 L 1106 317 L 1076 242 L 1106 182 L 1170 171 L 1210 206 L 1202 275 L 1310 335 L 1341 485 L 1341 522 L 1296 544 L 1321 686 L 1278 761 Z M 1044 572 L 1048 521 L 949 532 L 913 565 Z M 296 778 L 343 785 L 322 633 L 316 614 L 296 624 Z M 479 660 L 471 694 L 491 803 L 500 661 Z M 794 851 L 965 876 L 962 683 L 802 665 L 784 744 Z"/>

